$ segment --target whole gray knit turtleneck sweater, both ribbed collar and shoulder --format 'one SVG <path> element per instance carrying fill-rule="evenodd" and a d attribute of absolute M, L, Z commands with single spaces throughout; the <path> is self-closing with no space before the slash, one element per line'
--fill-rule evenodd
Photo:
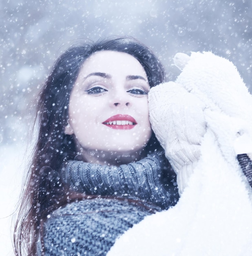
<path fill-rule="evenodd" d="M 105 198 L 72 202 L 47 216 L 40 226 L 37 255 L 105 256 L 116 238 L 153 213 L 150 209 L 168 209 L 177 202 L 175 176 L 162 177 L 168 172 L 166 164 L 159 153 L 118 167 L 68 162 L 61 177 L 71 189 Z M 106 198 L 110 195 L 125 200 Z"/>

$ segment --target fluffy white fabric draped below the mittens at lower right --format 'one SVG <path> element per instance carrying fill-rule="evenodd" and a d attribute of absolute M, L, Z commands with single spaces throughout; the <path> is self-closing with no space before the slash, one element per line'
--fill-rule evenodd
<path fill-rule="evenodd" d="M 252 255 L 251 191 L 213 140 L 207 132 L 203 157 L 177 205 L 128 230 L 108 256 Z"/>

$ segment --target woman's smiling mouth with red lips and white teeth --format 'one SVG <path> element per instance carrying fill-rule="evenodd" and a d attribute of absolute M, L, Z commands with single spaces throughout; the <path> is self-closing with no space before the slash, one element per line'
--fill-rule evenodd
<path fill-rule="evenodd" d="M 137 124 L 137 121 L 130 115 L 115 115 L 109 117 L 102 124 L 117 130 L 129 130 L 133 129 Z"/>

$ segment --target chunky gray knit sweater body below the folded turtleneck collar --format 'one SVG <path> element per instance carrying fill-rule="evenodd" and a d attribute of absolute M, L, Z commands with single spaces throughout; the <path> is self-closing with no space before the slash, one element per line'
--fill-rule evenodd
<path fill-rule="evenodd" d="M 150 215 L 148 209 L 116 199 L 67 204 L 44 222 L 44 256 L 105 256 L 115 239 Z M 41 255 L 38 243 L 38 255 Z"/>

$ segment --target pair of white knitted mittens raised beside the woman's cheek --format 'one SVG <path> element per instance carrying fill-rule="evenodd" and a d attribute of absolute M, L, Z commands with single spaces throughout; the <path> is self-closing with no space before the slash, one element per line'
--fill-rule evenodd
<path fill-rule="evenodd" d="M 201 141 L 211 130 L 226 161 L 252 152 L 252 97 L 236 67 L 211 52 L 176 54 L 183 70 L 176 83 L 148 94 L 150 122 L 177 173 L 179 192 L 201 156 Z M 214 159 L 213 159 L 214 161 Z"/>

